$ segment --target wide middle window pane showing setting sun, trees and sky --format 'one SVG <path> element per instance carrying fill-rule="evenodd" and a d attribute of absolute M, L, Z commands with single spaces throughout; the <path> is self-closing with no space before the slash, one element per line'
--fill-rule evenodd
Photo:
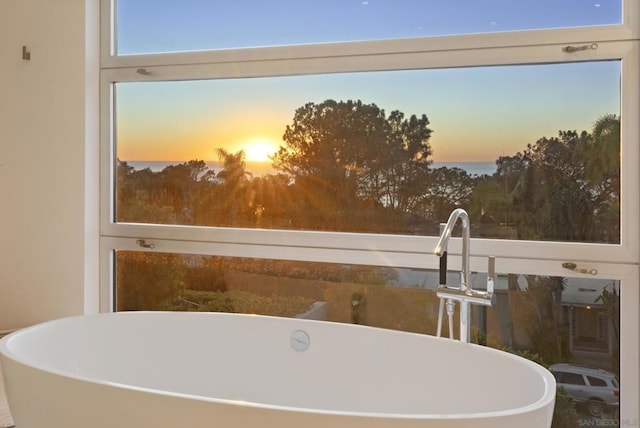
<path fill-rule="evenodd" d="M 119 222 L 620 242 L 619 61 L 115 91 Z"/>

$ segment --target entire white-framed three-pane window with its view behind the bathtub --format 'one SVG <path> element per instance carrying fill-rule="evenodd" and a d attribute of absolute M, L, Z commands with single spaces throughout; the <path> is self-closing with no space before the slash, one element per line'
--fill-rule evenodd
<path fill-rule="evenodd" d="M 434 334 L 463 208 L 472 340 L 637 425 L 640 3 L 101 2 L 102 310 Z"/>

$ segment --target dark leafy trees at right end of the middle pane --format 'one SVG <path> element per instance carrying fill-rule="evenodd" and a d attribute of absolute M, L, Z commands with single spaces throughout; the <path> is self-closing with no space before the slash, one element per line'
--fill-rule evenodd
<path fill-rule="evenodd" d="M 620 124 L 605 115 L 587 131 L 560 131 L 500 158 L 496 178 L 511 188 L 518 238 L 619 242 Z M 518 173 L 518 171 L 520 171 Z"/>

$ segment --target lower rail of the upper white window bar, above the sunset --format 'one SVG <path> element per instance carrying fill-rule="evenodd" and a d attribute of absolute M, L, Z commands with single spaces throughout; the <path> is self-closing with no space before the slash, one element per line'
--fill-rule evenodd
<path fill-rule="evenodd" d="M 534 46 L 460 49 L 420 52 L 359 53 L 341 57 L 271 58 L 238 62 L 131 63 L 103 70 L 107 82 L 171 81 L 275 77 L 356 71 L 417 70 L 470 66 L 529 65 L 561 62 L 615 60 L 632 49 L 629 41 L 589 39 L 577 44 L 596 44 L 597 49 L 566 52 L 567 43 Z"/>

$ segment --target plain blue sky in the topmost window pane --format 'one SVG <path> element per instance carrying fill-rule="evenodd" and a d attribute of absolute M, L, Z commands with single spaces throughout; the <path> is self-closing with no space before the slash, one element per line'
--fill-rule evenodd
<path fill-rule="evenodd" d="M 621 0 L 119 0 L 120 53 L 617 24 Z"/>

